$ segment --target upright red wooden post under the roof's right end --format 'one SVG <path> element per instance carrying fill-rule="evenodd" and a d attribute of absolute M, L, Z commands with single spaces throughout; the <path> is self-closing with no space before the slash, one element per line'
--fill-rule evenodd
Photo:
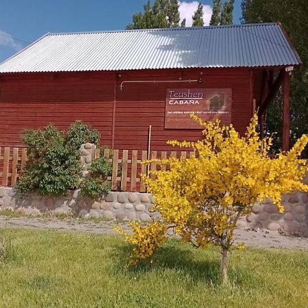
<path fill-rule="evenodd" d="M 291 72 L 285 72 L 283 76 L 283 136 L 282 151 L 290 149 L 290 80 Z"/>

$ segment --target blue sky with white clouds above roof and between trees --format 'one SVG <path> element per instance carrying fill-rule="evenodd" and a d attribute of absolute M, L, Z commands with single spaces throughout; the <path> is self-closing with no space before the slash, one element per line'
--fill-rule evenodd
<path fill-rule="evenodd" d="M 125 29 L 146 0 L 5 0 L 0 3 L 0 62 L 47 32 Z M 201 1 L 205 22 L 212 0 Z M 235 0 L 233 23 L 239 24 L 240 0 Z M 152 0 L 153 3 L 153 0 Z M 181 16 L 190 18 L 197 1 L 180 1 Z"/>

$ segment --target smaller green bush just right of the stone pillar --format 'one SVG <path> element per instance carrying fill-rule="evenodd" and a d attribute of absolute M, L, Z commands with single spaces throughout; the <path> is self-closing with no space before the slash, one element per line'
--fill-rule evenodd
<path fill-rule="evenodd" d="M 89 168 L 89 172 L 89 176 L 79 185 L 83 196 L 97 199 L 110 191 L 111 185 L 110 181 L 107 181 L 107 176 L 111 175 L 112 167 L 105 157 L 101 156 L 95 159 Z"/>

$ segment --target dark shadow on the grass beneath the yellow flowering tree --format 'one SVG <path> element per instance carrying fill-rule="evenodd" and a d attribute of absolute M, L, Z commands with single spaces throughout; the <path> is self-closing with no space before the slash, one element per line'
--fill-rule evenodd
<path fill-rule="evenodd" d="M 202 251 L 202 260 L 196 257 L 189 246 L 179 244 L 179 240 L 168 240 L 168 243 L 160 247 L 151 258 L 140 261 L 136 266 L 126 266 L 132 252 L 131 245 L 125 243 L 116 246 L 112 255 L 112 272 L 119 276 L 129 276 L 131 279 L 142 277 L 144 274 L 153 274 L 156 277 L 186 281 L 189 287 L 196 283 L 204 283 L 209 287 L 221 285 L 220 277 L 220 253 L 209 249 Z M 232 254 L 230 256 L 232 258 Z M 255 277 L 256 273 L 251 272 L 242 266 L 229 266 L 229 282 L 231 287 L 253 287 L 263 285 L 261 277 Z M 262 282 L 263 281 L 263 282 Z"/>

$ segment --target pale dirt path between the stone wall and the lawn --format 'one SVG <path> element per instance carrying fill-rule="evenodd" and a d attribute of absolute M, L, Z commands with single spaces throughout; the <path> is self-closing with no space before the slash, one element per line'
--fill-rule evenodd
<path fill-rule="evenodd" d="M 125 222 L 101 221 L 84 222 L 84 220 L 57 218 L 11 218 L 0 216 L 0 228 L 34 228 L 53 229 L 60 231 L 90 232 L 97 234 L 116 234 L 114 225 L 129 229 Z M 279 234 L 277 231 L 236 230 L 236 242 L 245 242 L 246 246 L 276 247 L 276 248 L 303 248 L 308 249 L 308 238 L 290 237 Z"/>

